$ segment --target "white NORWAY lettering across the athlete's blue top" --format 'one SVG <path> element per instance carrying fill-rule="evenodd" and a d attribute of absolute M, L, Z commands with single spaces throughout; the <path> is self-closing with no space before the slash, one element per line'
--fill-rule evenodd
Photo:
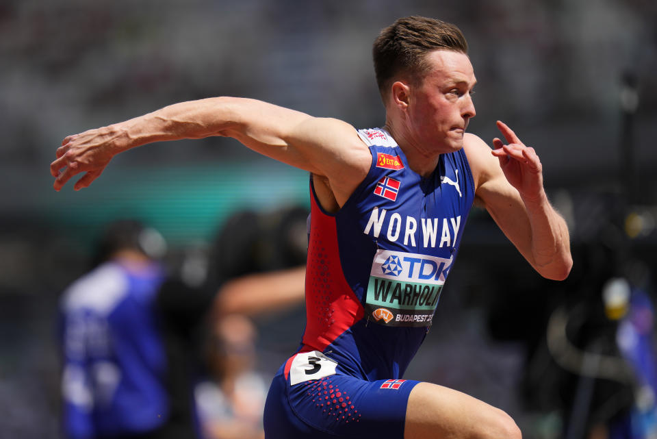
<path fill-rule="evenodd" d="M 378 214 L 378 207 L 372 209 L 372 214 L 370 214 L 370 220 L 365 226 L 363 233 L 369 235 L 372 231 L 374 238 L 378 238 L 381 234 L 381 229 L 383 228 L 383 222 L 385 220 L 385 214 L 387 210 L 381 209 L 381 216 Z M 456 236 L 459 234 L 459 227 L 461 227 L 461 216 L 456 216 L 456 218 L 443 218 L 442 224 L 439 226 L 439 218 L 421 218 L 422 224 L 422 247 L 436 247 L 436 238 L 439 234 L 440 229 L 440 243 L 438 247 L 452 247 L 456 244 Z M 451 225 L 451 230 L 450 230 Z M 387 238 L 390 242 L 397 242 L 400 238 L 402 227 L 404 228 L 404 245 L 409 245 L 416 247 L 415 236 L 418 231 L 417 219 L 413 216 L 407 216 L 406 221 L 402 221 L 402 216 L 398 213 L 394 213 L 389 217 L 388 228 L 387 228 Z M 450 233 L 452 232 L 452 233 Z"/>

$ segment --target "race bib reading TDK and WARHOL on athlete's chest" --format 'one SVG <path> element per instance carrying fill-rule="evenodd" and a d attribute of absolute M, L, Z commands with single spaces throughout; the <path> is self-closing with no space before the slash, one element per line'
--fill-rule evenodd
<path fill-rule="evenodd" d="M 387 326 L 430 326 L 452 258 L 379 249 L 372 261 L 365 312 Z"/>

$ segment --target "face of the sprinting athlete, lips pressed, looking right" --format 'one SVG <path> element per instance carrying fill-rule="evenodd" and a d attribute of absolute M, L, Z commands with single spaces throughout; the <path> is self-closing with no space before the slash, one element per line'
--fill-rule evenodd
<path fill-rule="evenodd" d="M 476 83 L 467 55 L 437 50 L 426 55 L 430 68 L 411 85 L 408 123 L 424 153 L 449 153 L 463 147 L 463 134 L 474 117 L 472 88 Z"/>

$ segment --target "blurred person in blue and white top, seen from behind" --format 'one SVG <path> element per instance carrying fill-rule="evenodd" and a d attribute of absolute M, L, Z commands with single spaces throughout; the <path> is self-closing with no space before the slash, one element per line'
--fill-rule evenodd
<path fill-rule="evenodd" d="M 166 420 L 166 351 L 154 312 L 166 277 L 159 263 L 165 249 L 155 229 L 137 221 L 112 223 L 92 271 L 64 292 L 68 438 L 140 437 Z"/>

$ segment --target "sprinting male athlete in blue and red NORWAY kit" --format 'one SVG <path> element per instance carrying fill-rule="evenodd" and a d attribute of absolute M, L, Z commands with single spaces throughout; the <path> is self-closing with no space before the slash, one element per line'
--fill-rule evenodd
<path fill-rule="evenodd" d="M 400 18 L 374 42 L 385 125 L 355 129 L 251 99 L 218 97 L 68 136 L 51 164 L 75 189 L 146 143 L 229 136 L 311 173 L 307 324 L 272 381 L 268 439 L 519 438 L 502 410 L 402 376 L 431 325 L 472 204 L 544 277 L 565 279 L 569 234 L 541 162 L 502 122 L 493 149 L 467 134 L 476 78 L 457 27 Z M 508 267 L 513 271 L 513 267 Z"/>

